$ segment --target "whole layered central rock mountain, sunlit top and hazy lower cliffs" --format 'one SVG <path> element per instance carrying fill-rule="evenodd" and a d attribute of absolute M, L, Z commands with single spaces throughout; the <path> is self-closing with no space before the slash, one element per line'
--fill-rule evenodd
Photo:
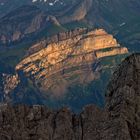
<path fill-rule="evenodd" d="M 35 44 L 42 49 L 23 59 L 16 70 L 23 71 L 40 91 L 55 97 L 67 92 L 70 85 L 98 79 L 99 58 L 128 53 L 102 29 L 46 44 L 45 48 L 42 45 L 44 41 Z"/>

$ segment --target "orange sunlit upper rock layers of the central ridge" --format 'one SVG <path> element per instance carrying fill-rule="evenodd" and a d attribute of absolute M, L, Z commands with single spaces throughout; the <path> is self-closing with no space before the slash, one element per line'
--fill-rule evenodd
<path fill-rule="evenodd" d="M 121 47 L 116 39 L 103 29 L 86 33 L 85 30 L 81 31 L 84 33 L 70 38 L 61 36 L 61 40 L 55 43 L 47 44 L 44 40 L 35 44 L 32 48 L 39 47 L 39 51 L 25 57 L 16 66 L 16 71 L 23 71 L 27 77 L 35 81 L 40 89 L 46 90 L 56 85 L 53 78 L 55 76 L 60 75 L 57 78 L 59 80 L 62 79 L 61 75 L 70 77 L 67 71 L 79 73 L 77 68 L 81 66 L 83 69 L 90 70 L 92 64 L 99 58 L 128 53 L 127 48 Z M 92 77 L 95 78 L 95 76 Z"/>

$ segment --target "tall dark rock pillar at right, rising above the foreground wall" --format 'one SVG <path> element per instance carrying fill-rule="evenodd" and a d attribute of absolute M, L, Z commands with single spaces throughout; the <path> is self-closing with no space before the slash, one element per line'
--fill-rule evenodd
<path fill-rule="evenodd" d="M 107 89 L 106 109 L 112 126 L 118 129 L 114 136 L 140 139 L 140 54 L 128 57 L 112 76 Z"/>

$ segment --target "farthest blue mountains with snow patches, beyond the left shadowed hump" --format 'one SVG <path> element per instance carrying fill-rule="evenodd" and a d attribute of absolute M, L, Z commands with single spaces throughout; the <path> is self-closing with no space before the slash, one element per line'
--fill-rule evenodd
<path fill-rule="evenodd" d="M 14 9 L 18 12 L 16 9 L 23 5 L 34 5 L 45 15 L 54 16 L 61 25 L 70 26 L 69 28 L 76 26 L 104 28 L 127 45 L 131 51 L 139 51 L 139 48 L 135 47 L 139 44 L 140 32 L 138 28 L 140 2 L 138 0 L 48 0 L 45 2 L 1 0 L 1 3 L 3 3 L 0 6 L 1 17 Z"/>

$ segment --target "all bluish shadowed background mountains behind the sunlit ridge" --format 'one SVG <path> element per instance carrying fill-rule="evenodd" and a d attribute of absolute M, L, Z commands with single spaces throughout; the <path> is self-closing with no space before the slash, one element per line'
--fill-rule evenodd
<path fill-rule="evenodd" d="M 139 51 L 139 47 L 135 47 L 139 44 L 140 32 L 138 0 L 4 0 L 2 3 L 1 43 L 9 44 L 23 38 L 36 41 L 44 35 L 84 26 L 103 28 L 115 35 L 131 51 Z"/>

